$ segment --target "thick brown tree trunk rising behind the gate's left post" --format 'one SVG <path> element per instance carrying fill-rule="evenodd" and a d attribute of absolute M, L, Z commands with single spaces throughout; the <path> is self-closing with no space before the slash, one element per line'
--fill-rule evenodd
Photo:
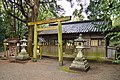
<path fill-rule="evenodd" d="M 30 19 L 31 22 L 37 21 L 38 11 L 39 11 L 39 0 L 34 0 L 34 7 L 32 9 L 32 16 Z M 32 45 L 33 44 L 33 37 L 34 37 L 33 30 L 34 30 L 33 26 L 28 27 L 28 47 L 27 47 L 27 50 L 28 50 L 28 54 L 30 56 L 33 55 L 33 45 Z"/>

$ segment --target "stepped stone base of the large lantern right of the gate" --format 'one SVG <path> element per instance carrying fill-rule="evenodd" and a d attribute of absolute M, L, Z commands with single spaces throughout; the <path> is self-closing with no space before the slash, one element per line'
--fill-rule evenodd
<path fill-rule="evenodd" d="M 71 66 L 69 67 L 71 70 L 79 70 L 79 71 L 88 71 L 90 66 L 87 60 L 83 57 L 76 57 Z"/>

